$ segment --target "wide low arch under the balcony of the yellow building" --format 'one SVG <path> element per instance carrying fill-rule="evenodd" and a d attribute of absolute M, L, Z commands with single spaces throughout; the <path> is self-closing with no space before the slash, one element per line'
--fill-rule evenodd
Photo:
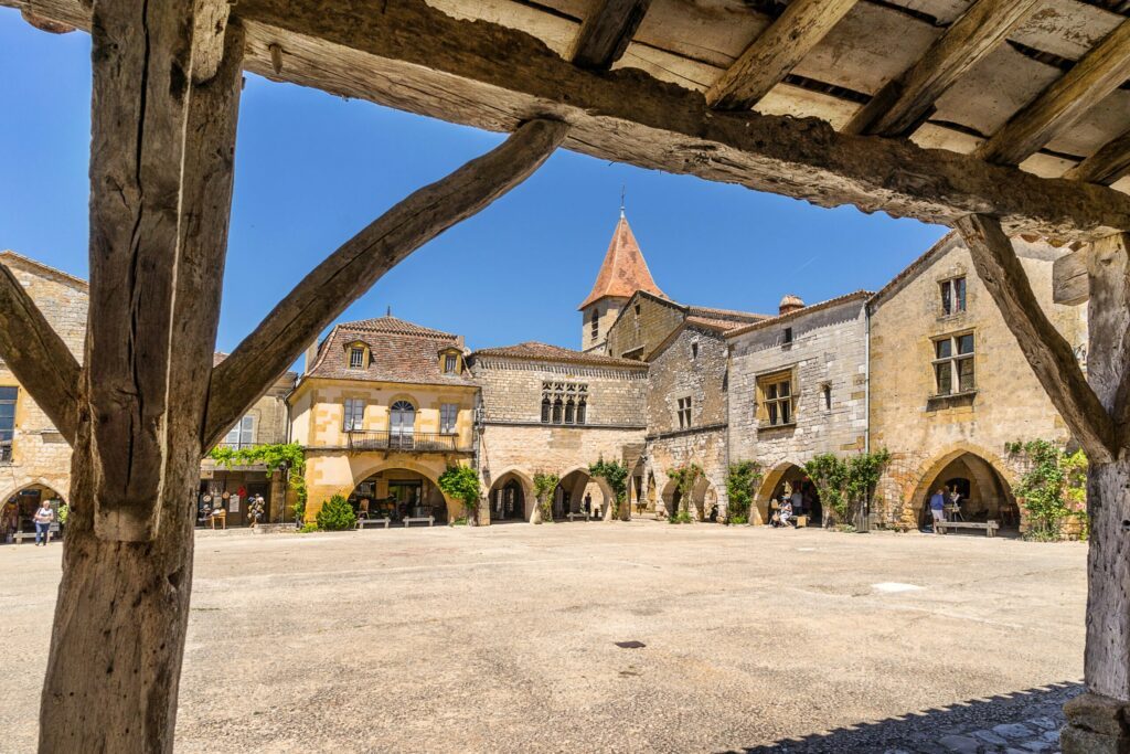
<path fill-rule="evenodd" d="M 377 465 L 357 474 L 349 504 L 367 518 L 403 521 L 432 515 L 436 523 L 446 523 L 449 517 L 462 514 L 462 504 L 450 501 L 437 479 L 434 469 L 412 461 Z"/>

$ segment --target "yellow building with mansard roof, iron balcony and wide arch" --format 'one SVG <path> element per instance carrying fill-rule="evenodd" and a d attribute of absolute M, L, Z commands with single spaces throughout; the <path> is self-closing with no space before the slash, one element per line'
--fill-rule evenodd
<path fill-rule="evenodd" d="M 289 397 L 306 449 L 306 520 L 332 495 L 393 520 L 454 520 L 440 475 L 475 457 L 478 387 L 462 338 L 394 317 L 345 322 L 306 352 Z"/>

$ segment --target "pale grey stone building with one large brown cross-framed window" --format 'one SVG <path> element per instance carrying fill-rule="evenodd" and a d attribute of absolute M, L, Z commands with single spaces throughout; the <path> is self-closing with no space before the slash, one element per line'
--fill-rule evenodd
<path fill-rule="evenodd" d="M 859 291 L 811 306 L 785 296 L 777 317 L 727 333 L 730 462 L 757 461 L 765 475 L 750 522 L 767 522 L 771 499 L 797 489 L 820 522 L 827 512 L 803 463 L 866 449 L 870 295 Z"/>

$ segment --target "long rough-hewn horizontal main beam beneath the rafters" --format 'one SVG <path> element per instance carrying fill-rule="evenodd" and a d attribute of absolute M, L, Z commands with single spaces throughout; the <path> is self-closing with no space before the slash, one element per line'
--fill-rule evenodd
<path fill-rule="evenodd" d="M 27 0 L 0 0 L 0 5 Z M 89 26 L 79 0 L 36 0 L 37 12 Z M 544 115 L 570 123 L 563 145 L 600 159 L 738 183 L 822 207 L 951 225 L 992 214 L 1009 233 L 1092 240 L 1130 227 L 1130 197 L 988 165 L 904 140 L 836 133 L 826 122 L 719 112 L 701 93 L 629 68 L 592 72 L 532 36 L 452 18 L 423 0 L 241 0 L 246 68 L 409 112 L 513 131 Z"/>

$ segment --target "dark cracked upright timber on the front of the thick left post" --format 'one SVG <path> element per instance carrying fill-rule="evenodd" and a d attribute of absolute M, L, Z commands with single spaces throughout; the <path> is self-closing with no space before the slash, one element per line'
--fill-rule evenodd
<path fill-rule="evenodd" d="M 221 2 L 223 0 L 215 0 Z M 174 322 L 188 278 L 184 159 L 199 0 L 95 3 L 87 388 L 97 463 L 96 530 L 148 541 L 169 453 Z M 206 47 L 211 45 L 209 38 Z M 108 51 L 113 52 L 110 53 Z M 207 118 L 207 115 L 201 115 Z M 221 216 L 226 227 L 227 213 Z M 223 252 L 220 249 L 220 259 Z"/>

